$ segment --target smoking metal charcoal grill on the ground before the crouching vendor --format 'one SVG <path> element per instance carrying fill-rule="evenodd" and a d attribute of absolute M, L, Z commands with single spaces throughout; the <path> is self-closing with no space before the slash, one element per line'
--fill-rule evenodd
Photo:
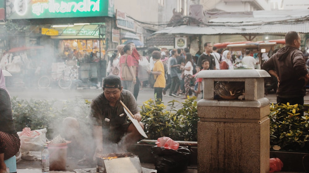
<path fill-rule="evenodd" d="M 142 166 L 137 155 L 129 152 L 96 155 L 96 172 L 103 173 L 142 173 Z"/>

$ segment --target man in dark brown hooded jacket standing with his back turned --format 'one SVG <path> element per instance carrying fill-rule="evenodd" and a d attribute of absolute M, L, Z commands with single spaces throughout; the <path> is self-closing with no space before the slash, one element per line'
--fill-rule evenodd
<path fill-rule="evenodd" d="M 304 104 L 308 73 L 300 47 L 300 35 L 290 31 L 285 36 L 286 46 L 279 49 L 262 65 L 262 69 L 277 77 L 277 103 Z"/>

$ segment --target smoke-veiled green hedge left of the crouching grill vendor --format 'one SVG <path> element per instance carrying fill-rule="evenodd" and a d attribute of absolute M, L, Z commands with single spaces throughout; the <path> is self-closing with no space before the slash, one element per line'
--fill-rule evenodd
<path fill-rule="evenodd" d="M 31 130 L 46 128 L 46 137 L 53 138 L 53 132 L 57 130 L 62 120 L 66 117 L 75 117 L 85 121 L 88 114 L 88 100 L 67 100 L 61 102 L 61 107 L 57 107 L 59 100 L 18 100 L 11 98 L 12 114 L 15 128 L 18 132 L 29 127 Z"/>

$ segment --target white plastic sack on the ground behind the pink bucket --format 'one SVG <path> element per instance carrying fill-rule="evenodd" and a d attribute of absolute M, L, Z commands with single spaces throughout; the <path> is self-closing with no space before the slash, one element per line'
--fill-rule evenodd
<path fill-rule="evenodd" d="M 23 128 L 22 132 L 17 132 L 20 139 L 21 152 L 25 151 L 42 151 L 46 144 L 46 128 L 33 130 Z"/>

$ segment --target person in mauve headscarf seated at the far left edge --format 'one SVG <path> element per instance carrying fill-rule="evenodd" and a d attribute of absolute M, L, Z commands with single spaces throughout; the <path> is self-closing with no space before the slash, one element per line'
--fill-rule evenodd
<path fill-rule="evenodd" d="M 0 173 L 6 172 L 4 160 L 14 156 L 19 147 L 20 140 L 13 124 L 11 99 L 0 68 Z"/>

